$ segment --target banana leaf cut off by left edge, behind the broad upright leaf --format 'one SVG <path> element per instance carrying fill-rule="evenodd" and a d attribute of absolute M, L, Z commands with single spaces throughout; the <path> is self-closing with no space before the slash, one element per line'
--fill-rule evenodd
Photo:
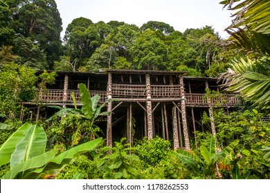
<path fill-rule="evenodd" d="M 0 166 L 10 162 L 10 156 L 15 151 L 17 143 L 24 138 L 30 127 L 32 124 L 25 123 L 0 146 Z"/>

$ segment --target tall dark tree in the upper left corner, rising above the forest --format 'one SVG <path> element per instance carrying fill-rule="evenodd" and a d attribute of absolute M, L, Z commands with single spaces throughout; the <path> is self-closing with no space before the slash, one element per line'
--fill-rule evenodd
<path fill-rule="evenodd" d="M 62 19 L 55 0 L 8 0 L 12 22 L 19 37 L 30 40 L 44 50 L 50 68 L 61 52 Z M 24 56 L 21 56 L 24 57 Z"/>

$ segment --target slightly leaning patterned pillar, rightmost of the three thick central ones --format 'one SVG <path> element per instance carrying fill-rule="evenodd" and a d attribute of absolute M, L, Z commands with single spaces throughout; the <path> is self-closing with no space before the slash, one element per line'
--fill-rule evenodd
<path fill-rule="evenodd" d="M 179 77 L 180 83 L 180 96 L 181 96 L 181 114 L 182 114 L 182 123 L 183 123 L 183 136 L 185 141 L 185 148 L 190 150 L 190 139 L 188 137 L 188 123 L 186 119 L 186 99 L 185 99 L 185 90 L 183 85 L 183 77 Z"/>

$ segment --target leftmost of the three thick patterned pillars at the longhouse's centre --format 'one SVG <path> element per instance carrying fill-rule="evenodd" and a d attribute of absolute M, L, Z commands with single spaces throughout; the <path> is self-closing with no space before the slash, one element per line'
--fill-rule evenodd
<path fill-rule="evenodd" d="M 107 84 L 107 97 L 111 100 L 111 72 L 108 72 L 108 84 Z M 107 106 L 107 112 L 111 112 L 111 101 Z M 112 146 L 112 134 L 111 134 L 111 113 L 107 116 L 107 147 Z"/>

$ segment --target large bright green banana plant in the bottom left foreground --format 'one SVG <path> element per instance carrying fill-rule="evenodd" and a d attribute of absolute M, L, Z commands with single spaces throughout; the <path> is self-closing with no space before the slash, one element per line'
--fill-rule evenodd
<path fill-rule="evenodd" d="M 10 170 L 1 179 L 42 179 L 61 172 L 78 154 L 89 152 L 101 145 L 102 139 L 66 150 L 45 152 L 46 134 L 37 125 L 25 123 L 1 145 L 1 165 L 10 163 Z M 10 161 L 9 161 L 10 160 Z"/>

